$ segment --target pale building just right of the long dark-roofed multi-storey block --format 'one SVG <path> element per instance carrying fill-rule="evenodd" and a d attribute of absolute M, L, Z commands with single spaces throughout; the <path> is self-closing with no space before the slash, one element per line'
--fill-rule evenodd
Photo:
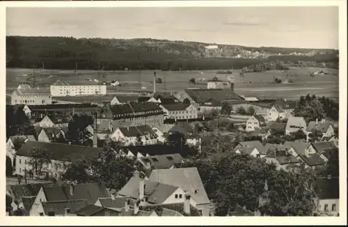
<path fill-rule="evenodd" d="M 163 109 L 165 119 L 193 119 L 197 118 L 198 116 L 197 108 L 194 107 L 192 104 L 160 104 L 159 107 Z"/>

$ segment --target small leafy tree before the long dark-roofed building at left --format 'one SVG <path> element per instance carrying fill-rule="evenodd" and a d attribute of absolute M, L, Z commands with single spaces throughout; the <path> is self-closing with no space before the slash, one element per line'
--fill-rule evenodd
<path fill-rule="evenodd" d="M 45 165 L 51 163 L 52 153 L 46 148 L 32 148 L 29 151 L 29 165 L 35 178 L 39 178 Z"/>

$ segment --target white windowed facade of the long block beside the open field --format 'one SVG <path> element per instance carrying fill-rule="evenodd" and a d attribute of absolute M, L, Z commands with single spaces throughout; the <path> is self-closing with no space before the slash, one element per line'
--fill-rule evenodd
<path fill-rule="evenodd" d="M 51 95 L 54 97 L 106 95 L 106 85 L 86 86 L 50 86 Z"/>

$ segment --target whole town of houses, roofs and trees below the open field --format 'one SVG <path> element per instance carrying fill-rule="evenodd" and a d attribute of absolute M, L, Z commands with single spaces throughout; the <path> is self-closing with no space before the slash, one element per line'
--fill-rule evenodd
<path fill-rule="evenodd" d="M 233 77 L 106 90 L 58 79 L 13 91 L 8 215 L 339 215 L 337 100 L 246 97 Z"/>

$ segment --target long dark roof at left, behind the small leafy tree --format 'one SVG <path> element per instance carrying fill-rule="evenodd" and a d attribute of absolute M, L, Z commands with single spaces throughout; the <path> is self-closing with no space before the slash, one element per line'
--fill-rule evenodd
<path fill-rule="evenodd" d="M 103 148 L 92 148 L 64 143 L 26 141 L 26 143 L 17 150 L 17 155 L 29 157 L 29 152 L 33 148 L 47 149 L 52 153 L 52 159 L 66 162 L 75 162 L 81 158 L 96 157 L 103 150 Z"/>

